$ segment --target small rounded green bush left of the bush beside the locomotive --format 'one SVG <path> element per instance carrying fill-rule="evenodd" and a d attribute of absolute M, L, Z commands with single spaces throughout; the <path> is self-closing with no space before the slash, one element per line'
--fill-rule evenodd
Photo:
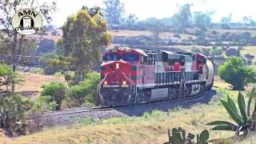
<path fill-rule="evenodd" d="M 41 99 L 45 102 L 57 102 L 57 110 L 61 110 L 62 101 L 66 98 L 67 86 L 64 82 L 50 82 L 48 85 L 42 85 Z"/>

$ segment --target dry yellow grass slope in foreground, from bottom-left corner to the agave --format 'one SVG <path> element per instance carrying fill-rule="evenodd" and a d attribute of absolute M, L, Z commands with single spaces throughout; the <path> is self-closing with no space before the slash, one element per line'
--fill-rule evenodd
<path fill-rule="evenodd" d="M 205 110 L 208 110 L 208 112 L 202 117 Z M 202 130 L 210 129 L 211 126 L 206 126 L 206 122 L 223 118 L 230 120 L 228 115 L 222 113 L 222 111 L 221 106 L 194 107 L 182 112 L 173 112 L 170 117 L 164 115 L 149 120 L 142 119 L 138 122 L 59 127 L 38 134 L 14 138 L 13 140 L 6 138 L 6 143 L 163 143 L 168 140 L 167 130 L 173 127 L 181 126 L 187 133 L 199 134 Z M 190 121 L 193 118 L 200 117 L 201 119 L 198 120 L 196 126 L 191 125 Z M 210 130 L 210 138 L 228 138 L 232 135 L 232 132 Z"/>

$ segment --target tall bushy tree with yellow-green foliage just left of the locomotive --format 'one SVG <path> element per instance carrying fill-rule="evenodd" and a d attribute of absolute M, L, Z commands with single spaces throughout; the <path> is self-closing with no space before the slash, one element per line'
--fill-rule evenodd
<path fill-rule="evenodd" d="M 64 67 L 64 71 L 74 68 L 81 75 L 81 81 L 83 75 L 101 61 L 101 47 L 111 41 L 106 21 L 95 9 L 100 11 L 98 7 L 82 9 L 67 18 L 62 26 L 62 39 L 57 42 L 62 55 L 58 60 L 50 60 L 52 66 Z"/>

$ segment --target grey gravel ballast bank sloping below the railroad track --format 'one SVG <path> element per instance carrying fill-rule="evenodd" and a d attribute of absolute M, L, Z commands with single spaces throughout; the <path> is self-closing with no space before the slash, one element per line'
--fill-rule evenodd
<path fill-rule="evenodd" d="M 131 106 L 130 108 L 119 110 L 95 110 L 84 111 L 74 114 L 57 114 L 47 115 L 43 114 L 30 116 L 30 129 L 32 131 L 42 130 L 42 128 L 49 128 L 54 126 L 68 126 L 74 124 L 77 118 L 90 118 L 94 119 L 107 119 L 107 118 L 120 118 L 125 116 L 142 116 L 147 111 L 163 110 L 168 111 L 176 106 L 182 106 L 183 108 L 190 108 L 194 105 L 208 104 L 211 98 L 218 99 L 222 95 L 218 94 L 215 90 L 207 91 L 202 97 L 196 99 L 186 100 L 185 102 L 172 102 L 164 104 L 147 104 L 142 106 Z"/>

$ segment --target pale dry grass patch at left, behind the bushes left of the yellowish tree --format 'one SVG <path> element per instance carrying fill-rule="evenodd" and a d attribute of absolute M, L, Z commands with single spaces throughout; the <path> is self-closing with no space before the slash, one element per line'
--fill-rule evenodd
<path fill-rule="evenodd" d="M 20 73 L 23 78 L 26 79 L 26 82 L 15 87 L 15 91 L 29 91 L 29 90 L 38 90 L 41 91 L 42 84 L 48 84 L 50 82 L 64 82 L 65 78 L 56 77 L 52 75 L 40 75 L 40 74 L 29 74 L 29 73 Z"/>

